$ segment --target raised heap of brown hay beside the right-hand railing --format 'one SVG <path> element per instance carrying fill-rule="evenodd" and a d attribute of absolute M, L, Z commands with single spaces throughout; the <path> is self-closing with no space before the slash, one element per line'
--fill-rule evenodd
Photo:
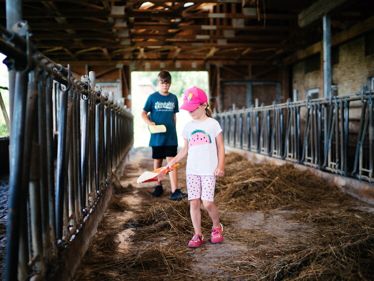
<path fill-rule="evenodd" d="M 230 210 L 308 209 L 311 205 L 357 201 L 335 185 L 291 164 L 256 164 L 236 153 L 226 158 L 225 176 L 217 178 L 215 202 Z"/>

